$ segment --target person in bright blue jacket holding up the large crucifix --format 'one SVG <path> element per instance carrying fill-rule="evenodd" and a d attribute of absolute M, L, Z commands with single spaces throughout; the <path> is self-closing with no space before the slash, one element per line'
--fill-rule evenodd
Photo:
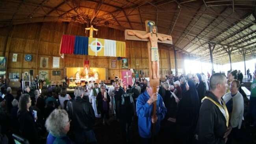
<path fill-rule="evenodd" d="M 156 102 L 156 116 L 151 115 L 153 113 L 154 102 Z M 157 92 L 154 93 L 152 87 L 147 83 L 147 90 L 139 95 L 136 103 L 141 143 L 150 144 L 151 138 L 158 134 L 161 120 L 165 117 L 166 112 L 167 109 L 165 108 L 162 97 Z M 155 130 L 151 131 L 153 124 L 155 124 Z"/>

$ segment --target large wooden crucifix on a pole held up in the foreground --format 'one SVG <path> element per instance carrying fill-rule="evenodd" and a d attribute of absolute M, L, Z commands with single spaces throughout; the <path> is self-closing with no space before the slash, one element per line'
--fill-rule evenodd
<path fill-rule="evenodd" d="M 155 22 L 146 20 L 145 21 L 146 31 L 139 30 L 125 30 L 124 36 L 126 40 L 132 41 L 147 41 L 148 42 L 148 68 L 150 86 L 153 92 L 157 92 L 159 86 L 159 55 L 158 55 L 158 42 L 173 44 L 172 37 L 157 33 L 157 27 Z M 152 116 L 156 116 L 156 102 L 153 104 Z"/>

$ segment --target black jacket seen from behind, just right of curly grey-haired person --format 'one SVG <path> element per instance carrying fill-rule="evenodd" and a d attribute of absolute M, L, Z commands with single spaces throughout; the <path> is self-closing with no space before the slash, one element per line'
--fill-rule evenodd
<path fill-rule="evenodd" d="M 72 120 L 71 126 L 75 131 L 91 130 L 95 124 L 95 114 L 91 103 L 76 97 L 67 103 L 67 112 Z"/>

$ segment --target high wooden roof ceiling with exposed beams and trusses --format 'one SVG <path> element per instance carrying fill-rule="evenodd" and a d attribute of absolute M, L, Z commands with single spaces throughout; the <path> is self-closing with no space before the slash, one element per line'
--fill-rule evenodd
<path fill-rule="evenodd" d="M 79 22 L 145 30 L 154 20 L 158 32 L 170 34 L 177 50 L 210 62 L 256 57 L 256 0 L 1 0 L 0 27 L 32 22 Z"/>

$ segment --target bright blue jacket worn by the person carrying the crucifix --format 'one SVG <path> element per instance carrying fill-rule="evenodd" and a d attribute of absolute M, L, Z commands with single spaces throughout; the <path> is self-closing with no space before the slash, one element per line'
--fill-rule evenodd
<path fill-rule="evenodd" d="M 148 105 L 147 101 L 150 98 L 148 92 L 145 91 L 139 95 L 136 103 L 136 113 L 138 116 L 138 127 L 139 127 L 139 135 L 143 138 L 151 137 L 151 116 L 153 111 L 153 104 Z M 163 103 L 163 99 L 158 94 L 158 100 L 156 103 L 156 114 L 158 117 L 158 121 L 156 122 L 155 135 L 160 130 L 160 122 L 165 117 L 167 109 Z"/>

